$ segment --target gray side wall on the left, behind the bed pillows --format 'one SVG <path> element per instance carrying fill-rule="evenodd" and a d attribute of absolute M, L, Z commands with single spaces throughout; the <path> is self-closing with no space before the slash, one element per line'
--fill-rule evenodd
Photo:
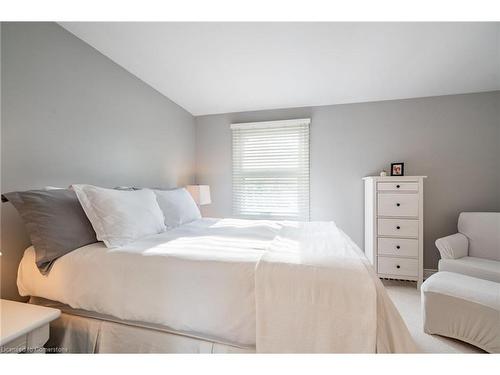
<path fill-rule="evenodd" d="M 2 192 L 194 178 L 194 118 L 55 23 L 2 24 Z M 2 298 L 29 240 L 2 205 Z"/>

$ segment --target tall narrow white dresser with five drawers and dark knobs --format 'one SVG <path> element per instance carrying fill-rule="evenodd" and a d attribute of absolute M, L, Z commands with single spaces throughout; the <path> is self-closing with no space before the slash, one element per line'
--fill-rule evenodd
<path fill-rule="evenodd" d="M 365 177 L 365 253 L 381 278 L 423 280 L 426 176 Z"/>

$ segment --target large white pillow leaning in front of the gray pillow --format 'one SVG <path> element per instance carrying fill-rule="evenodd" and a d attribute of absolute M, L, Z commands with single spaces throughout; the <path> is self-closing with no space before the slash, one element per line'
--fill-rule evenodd
<path fill-rule="evenodd" d="M 72 185 L 94 227 L 97 239 L 107 247 L 166 230 L 156 196 L 149 189 L 115 190 L 92 185 Z"/>

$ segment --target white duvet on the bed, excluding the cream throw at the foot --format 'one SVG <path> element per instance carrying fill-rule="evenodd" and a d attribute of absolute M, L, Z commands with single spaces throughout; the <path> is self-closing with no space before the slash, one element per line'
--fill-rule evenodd
<path fill-rule="evenodd" d="M 204 218 L 119 249 L 81 247 L 48 275 L 30 247 L 19 265 L 19 293 L 254 346 L 255 265 L 279 230 L 271 221 Z"/>

